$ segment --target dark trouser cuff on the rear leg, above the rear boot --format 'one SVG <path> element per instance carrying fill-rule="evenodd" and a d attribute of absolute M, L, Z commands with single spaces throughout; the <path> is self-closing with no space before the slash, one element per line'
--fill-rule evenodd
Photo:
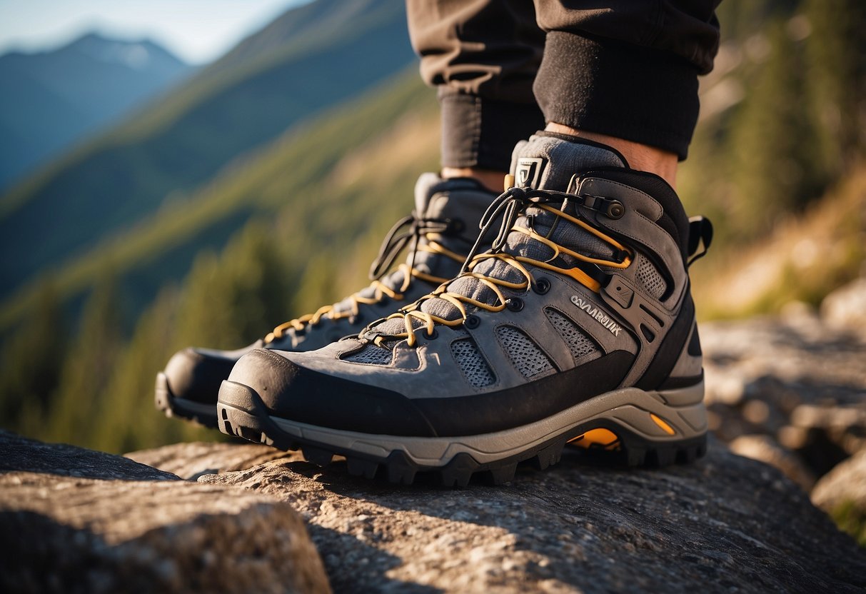
<path fill-rule="evenodd" d="M 485 99 L 440 89 L 443 167 L 508 171 L 519 140 L 544 127 L 533 104 Z"/>

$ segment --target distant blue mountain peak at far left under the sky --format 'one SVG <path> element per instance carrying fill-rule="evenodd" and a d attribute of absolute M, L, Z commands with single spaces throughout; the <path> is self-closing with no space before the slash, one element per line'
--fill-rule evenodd
<path fill-rule="evenodd" d="M 0 190 L 193 70 L 151 40 L 97 33 L 0 56 Z"/>

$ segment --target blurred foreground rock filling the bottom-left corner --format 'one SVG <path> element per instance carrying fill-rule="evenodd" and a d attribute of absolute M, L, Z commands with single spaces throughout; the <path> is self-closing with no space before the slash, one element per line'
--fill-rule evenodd
<path fill-rule="evenodd" d="M 6 432 L 0 451 L 0 591 L 328 590 L 273 497 Z"/>

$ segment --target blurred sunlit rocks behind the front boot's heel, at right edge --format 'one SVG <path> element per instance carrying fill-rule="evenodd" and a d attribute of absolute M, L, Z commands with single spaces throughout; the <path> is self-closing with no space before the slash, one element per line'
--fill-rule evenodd
<path fill-rule="evenodd" d="M 866 546 L 866 278 L 819 311 L 705 324 L 701 342 L 715 436 L 779 468 Z"/>

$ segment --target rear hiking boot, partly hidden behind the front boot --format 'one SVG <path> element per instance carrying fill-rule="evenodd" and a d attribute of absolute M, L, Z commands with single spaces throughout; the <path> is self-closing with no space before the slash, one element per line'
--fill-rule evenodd
<path fill-rule="evenodd" d="M 167 416 L 216 428 L 217 392 L 242 355 L 255 349 L 312 351 L 357 334 L 373 320 L 430 293 L 460 270 L 475 242 L 481 215 L 495 197 L 472 179 L 443 180 L 424 174 L 415 187 L 416 210 L 385 237 L 371 267 L 369 287 L 281 324 L 242 349 L 191 347 L 175 353 L 157 375 L 157 408 Z M 386 274 L 404 248 L 409 249 L 405 263 Z"/>

